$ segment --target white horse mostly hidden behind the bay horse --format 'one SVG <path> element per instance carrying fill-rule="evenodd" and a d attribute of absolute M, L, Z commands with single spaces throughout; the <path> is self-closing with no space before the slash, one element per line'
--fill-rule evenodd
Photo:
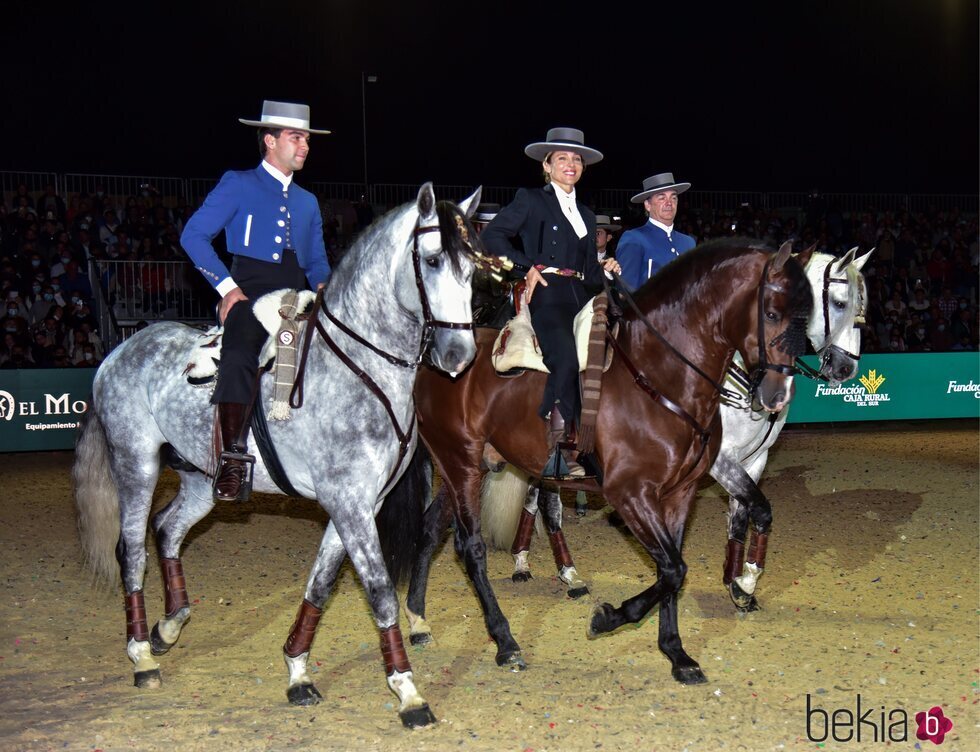
<path fill-rule="evenodd" d="M 861 357 L 861 334 L 857 324 L 864 322 L 866 297 L 864 278 L 860 270 L 873 251 L 855 259 L 856 251 L 856 248 L 852 249 L 840 259 L 826 253 L 812 253 L 806 264 L 807 279 L 810 281 L 814 301 L 817 302 L 807 323 L 807 338 L 819 358 L 819 368 L 813 370 L 803 363 L 799 363 L 798 368 L 810 378 L 839 383 L 857 374 Z M 708 473 L 722 488 L 732 489 L 729 496 L 728 547 L 723 581 L 739 611 L 754 611 L 759 608 L 754 593 L 763 571 L 763 549 L 767 545 L 767 539 L 753 531 L 749 560 L 743 567 L 748 532 L 748 505 L 736 491 L 745 486 L 743 470 L 758 486 L 769 449 L 779 437 L 790 408 L 787 405 L 773 413 L 754 405 L 752 395 L 745 390 L 744 376 L 737 379 L 735 375 L 743 368 L 744 362 L 736 353 L 732 371 L 726 377 L 725 384 L 737 397 L 722 400 L 719 408 L 722 422 L 721 448 Z M 536 492 L 529 485 L 528 477 L 510 465 L 498 473 L 487 474 L 483 483 L 481 511 L 485 536 L 497 547 L 511 550 L 514 554 L 512 578 L 515 582 L 531 578 L 528 561 L 530 538 L 526 537 L 511 545 L 517 531 L 518 516 L 526 518 L 523 510 L 527 509 L 529 515 L 535 509 L 541 509 L 554 517 L 549 522 L 552 526 L 557 525 L 558 530 L 552 533 L 552 537 L 562 540 L 564 538 L 560 532 L 562 507 L 560 501 L 551 496 L 555 492 L 547 488 Z M 761 489 L 755 490 L 762 493 Z M 542 497 L 541 494 L 545 496 Z M 562 546 L 561 543 L 557 546 L 559 551 Z M 563 566 L 563 562 L 561 556 L 556 556 L 558 577 L 569 586 L 568 595 L 575 598 L 587 594 L 588 586 L 577 570 Z"/>

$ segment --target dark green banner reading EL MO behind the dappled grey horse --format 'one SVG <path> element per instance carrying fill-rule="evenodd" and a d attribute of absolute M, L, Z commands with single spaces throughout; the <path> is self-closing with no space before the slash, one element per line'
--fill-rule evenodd
<path fill-rule="evenodd" d="M 0 370 L 0 452 L 73 449 L 94 368 Z"/>

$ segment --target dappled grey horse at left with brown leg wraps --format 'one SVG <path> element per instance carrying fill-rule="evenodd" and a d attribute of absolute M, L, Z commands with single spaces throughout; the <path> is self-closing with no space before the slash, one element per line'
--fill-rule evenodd
<path fill-rule="evenodd" d="M 310 647 L 325 601 L 346 556 L 367 593 L 381 632 L 388 686 L 406 726 L 435 718 L 416 689 L 398 627 L 398 598 L 388 577 L 374 516 L 412 457 L 417 430 L 412 387 L 422 350 L 456 373 L 475 353 L 471 278 L 476 233 L 468 216 L 480 190 L 458 207 L 437 202 L 431 183 L 414 202 L 380 218 L 357 240 L 318 296 L 306 325 L 305 404 L 291 419 L 269 421 L 286 485 L 316 499 L 330 516 L 296 620 L 283 647 L 294 705 L 320 701 L 308 672 Z M 106 358 L 93 385 L 73 469 L 78 528 L 86 563 L 106 582 L 121 574 L 126 652 L 140 688 L 161 684 L 154 656 L 177 642 L 190 618 L 180 547 L 214 507 L 209 390 L 183 373 L 201 333 L 154 324 Z M 263 379 L 264 410 L 272 397 Z M 283 493 L 255 437 L 255 490 Z M 180 476 L 177 495 L 150 519 L 161 457 Z M 147 524 L 163 570 L 164 616 L 147 628 L 143 599 Z M 113 556 L 113 553 L 115 554 Z M 117 569 L 118 567 L 118 569 Z"/>

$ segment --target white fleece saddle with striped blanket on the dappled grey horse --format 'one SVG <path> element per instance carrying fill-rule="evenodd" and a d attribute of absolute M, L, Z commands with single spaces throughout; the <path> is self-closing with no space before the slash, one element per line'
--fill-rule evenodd
<path fill-rule="evenodd" d="M 296 376 L 296 346 L 300 328 L 308 318 L 315 293 L 309 290 L 275 290 L 263 295 L 252 305 L 255 318 L 269 333 L 259 352 L 260 370 L 269 370 L 275 361 L 275 388 L 269 417 L 272 420 L 289 419 L 289 391 Z M 221 345 L 224 328 L 215 326 L 201 335 L 202 342 L 190 353 L 184 376 L 193 386 L 206 386 L 214 382 L 221 361 Z"/>

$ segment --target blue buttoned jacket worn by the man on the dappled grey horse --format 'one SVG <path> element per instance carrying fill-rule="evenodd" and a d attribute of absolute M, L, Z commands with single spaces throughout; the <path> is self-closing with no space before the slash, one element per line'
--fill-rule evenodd
<path fill-rule="evenodd" d="M 180 236 L 191 261 L 224 295 L 234 283 L 211 245 L 221 230 L 225 231 L 228 252 L 234 255 L 280 264 L 282 251 L 293 249 L 314 290 L 330 276 L 316 197 L 295 182 L 283 191 L 282 183 L 262 165 L 254 170 L 226 172 Z"/>

